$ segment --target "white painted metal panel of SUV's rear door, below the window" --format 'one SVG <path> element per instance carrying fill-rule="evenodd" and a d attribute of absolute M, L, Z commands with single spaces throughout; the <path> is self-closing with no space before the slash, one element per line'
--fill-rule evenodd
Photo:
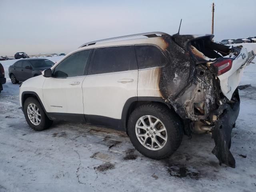
<path fill-rule="evenodd" d="M 137 96 L 137 83 L 138 70 L 86 76 L 84 114 L 121 119 L 125 102 Z"/>

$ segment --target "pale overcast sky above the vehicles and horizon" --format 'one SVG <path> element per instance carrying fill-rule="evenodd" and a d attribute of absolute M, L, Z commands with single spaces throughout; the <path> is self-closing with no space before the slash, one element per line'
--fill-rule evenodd
<path fill-rule="evenodd" d="M 0 0 L 0 55 L 67 53 L 85 42 L 162 31 L 211 33 L 213 0 Z M 215 41 L 256 36 L 256 0 L 214 0 Z"/>

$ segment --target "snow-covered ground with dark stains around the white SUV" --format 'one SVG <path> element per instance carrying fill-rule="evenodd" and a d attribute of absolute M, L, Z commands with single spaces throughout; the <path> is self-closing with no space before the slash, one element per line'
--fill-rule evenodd
<path fill-rule="evenodd" d="M 20 109 L 19 85 L 8 78 L 15 61 L 1 61 L 7 82 L 0 94 L 0 192 L 256 191 L 256 64 L 246 67 L 240 83 L 252 87 L 240 91 L 233 169 L 218 164 L 209 134 L 184 136 L 169 159 L 152 160 L 125 133 L 101 126 L 58 121 L 36 132 Z"/>

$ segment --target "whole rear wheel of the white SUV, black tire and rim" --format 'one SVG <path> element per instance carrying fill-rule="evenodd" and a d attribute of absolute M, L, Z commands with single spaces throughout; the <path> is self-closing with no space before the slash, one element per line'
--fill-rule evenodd
<path fill-rule="evenodd" d="M 149 126 L 149 118 L 147 118 L 149 116 L 152 124 L 156 122 L 156 119 L 160 121 L 156 126 L 148 127 L 148 131 L 144 130 L 145 126 L 142 126 L 143 123 L 141 118 L 145 118 L 144 122 Z M 138 124 L 140 124 L 139 126 L 143 127 L 143 129 L 136 128 Z M 164 131 L 157 133 L 159 132 L 158 130 L 163 130 L 164 128 Z M 146 137 L 142 136 L 137 138 L 136 134 L 146 135 L 146 146 L 142 143 L 145 141 Z M 161 137 L 158 136 L 159 134 L 161 134 Z M 182 122 L 167 106 L 161 104 L 145 104 L 139 106 L 132 112 L 132 114 L 130 114 L 128 120 L 128 135 L 136 150 L 144 156 L 153 159 L 167 158 L 180 146 L 183 137 Z M 162 138 L 165 138 L 166 140 Z M 152 139 L 155 141 L 153 142 L 153 145 Z M 161 147 L 156 143 L 156 140 L 158 141 L 158 144 L 161 144 Z M 152 150 L 152 146 L 154 150 Z"/>

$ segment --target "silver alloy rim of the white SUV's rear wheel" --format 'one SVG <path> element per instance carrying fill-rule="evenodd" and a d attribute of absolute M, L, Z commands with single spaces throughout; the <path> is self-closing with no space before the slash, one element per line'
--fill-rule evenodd
<path fill-rule="evenodd" d="M 150 150 L 162 149 L 168 138 L 164 124 L 151 115 L 145 115 L 138 119 L 135 132 L 139 142 Z"/>

